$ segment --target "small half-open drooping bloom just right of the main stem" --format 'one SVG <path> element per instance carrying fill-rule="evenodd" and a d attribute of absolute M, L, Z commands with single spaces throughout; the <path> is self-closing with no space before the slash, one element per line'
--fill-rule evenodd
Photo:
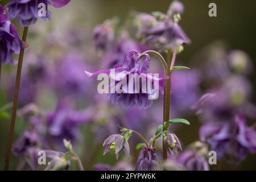
<path fill-rule="evenodd" d="M 168 133 L 164 138 L 164 145 L 167 148 L 167 151 L 171 154 L 171 156 L 175 157 L 177 155 L 177 149 L 181 148 L 180 140 L 174 133 Z"/>

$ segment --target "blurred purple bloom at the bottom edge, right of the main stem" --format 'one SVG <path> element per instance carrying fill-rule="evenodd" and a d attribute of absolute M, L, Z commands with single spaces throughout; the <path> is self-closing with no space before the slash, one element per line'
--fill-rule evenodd
<path fill-rule="evenodd" d="M 205 156 L 196 151 L 188 150 L 179 156 L 177 161 L 189 171 L 209 171 L 209 164 Z"/>

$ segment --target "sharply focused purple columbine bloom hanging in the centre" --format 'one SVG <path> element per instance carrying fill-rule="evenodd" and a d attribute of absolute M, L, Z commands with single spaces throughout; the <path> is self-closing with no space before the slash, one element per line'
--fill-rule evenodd
<path fill-rule="evenodd" d="M 122 78 L 113 78 L 115 80 L 115 85 L 121 83 L 121 81 L 126 79 L 127 85 L 129 85 L 129 74 L 135 74 L 137 73 L 139 76 L 145 77 L 146 82 L 151 81 L 151 84 L 154 84 L 154 81 L 161 80 L 161 78 L 158 78 L 154 75 L 148 76 L 146 73 L 149 72 L 149 66 L 150 66 L 150 57 L 147 54 L 144 54 L 144 57 L 146 57 L 144 60 L 140 57 L 139 53 L 136 51 L 129 51 L 126 55 L 125 63 L 121 66 L 113 69 L 115 71 L 115 75 L 118 75 L 119 73 L 122 74 Z M 86 75 L 88 76 L 97 76 L 100 73 L 106 73 L 110 76 L 110 69 L 98 71 L 95 73 L 90 73 L 85 71 Z M 110 101 L 112 104 L 119 104 L 119 106 L 129 109 L 133 105 L 137 105 L 139 109 L 147 109 L 148 107 L 152 106 L 152 100 L 149 100 L 148 97 L 152 96 L 152 93 L 142 93 L 142 82 L 139 82 L 139 88 L 140 90 L 136 90 L 134 88 L 127 88 L 123 87 L 121 92 L 122 93 L 111 93 L 109 94 Z M 139 91 L 139 92 L 138 92 Z M 154 93 L 153 93 L 154 94 Z M 154 96 L 153 96 L 154 97 Z"/>

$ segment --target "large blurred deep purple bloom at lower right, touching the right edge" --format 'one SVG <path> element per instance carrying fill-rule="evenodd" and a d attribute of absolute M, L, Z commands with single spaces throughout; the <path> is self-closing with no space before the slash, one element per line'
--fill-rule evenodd
<path fill-rule="evenodd" d="M 239 115 L 233 122 L 209 122 L 200 129 L 200 139 L 210 144 L 217 158 L 239 163 L 247 152 L 256 152 L 256 132 L 246 126 L 245 118 Z"/>

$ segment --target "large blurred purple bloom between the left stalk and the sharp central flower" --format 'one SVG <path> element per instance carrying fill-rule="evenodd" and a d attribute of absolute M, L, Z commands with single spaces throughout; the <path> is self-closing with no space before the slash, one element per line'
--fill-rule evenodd
<path fill-rule="evenodd" d="M 90 122 L 93 113 L 74 110 L 66 101 L 59 101 L 57 108 L 47 114 L 48 133 L 58 147 L 63 147 L 63 139 L 72 143 L 79 139 L 78 126 Z"/>

